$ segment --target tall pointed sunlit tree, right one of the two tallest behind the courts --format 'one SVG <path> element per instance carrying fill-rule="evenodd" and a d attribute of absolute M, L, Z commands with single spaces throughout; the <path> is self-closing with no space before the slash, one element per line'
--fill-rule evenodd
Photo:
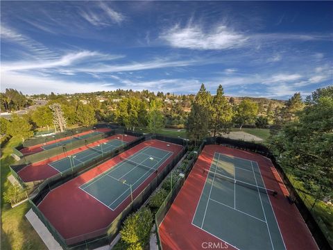
<path fill-rule="evenodd" d="M 211 126 L 213 136 L 216 136 L 216 133 L 227 132 L 228 128 L 231 126 L 231 120 L 232 106 L 223 95 L 222 85 L 219 85 L 212 102 Z"/>

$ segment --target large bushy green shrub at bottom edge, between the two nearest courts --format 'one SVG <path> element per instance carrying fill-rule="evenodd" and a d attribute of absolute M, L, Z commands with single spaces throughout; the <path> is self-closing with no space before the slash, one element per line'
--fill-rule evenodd
<path fill-rule="evenodd" d="M 128 216 L 121 228 L 121 240 L 126 243 L 126 249 L 142 250 L 149 242 L 153 215 L 149 208 L 142 208 Z"/>

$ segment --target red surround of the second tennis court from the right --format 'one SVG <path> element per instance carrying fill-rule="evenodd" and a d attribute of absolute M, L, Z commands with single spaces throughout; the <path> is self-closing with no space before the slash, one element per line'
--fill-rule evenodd
<path fill-rule="evenodd" d="M 169 146 L 167 146 L 167 144 L 169 144 Z M 130 197 L 123 201 L 116 210 L 112 211 L 83 190 L 80 190 L 80 185 L 87 183 L 92 178 L 114 167 L 117 163 L 120 163 L 121 157 L 128 158 L 132 156 L 133 153 L 147 146 L 173 152 L 173 155 L 164 162 L 159 169 L 166 167 L 182 149 L 182 146 L 178 144 L 171 144 L 160 140 L 142 142 L 52 190 L 46 195 L 38 208 L 40 208 L 45 217 L 49 219 L 49 222 L 51 222 L 65 239 L 76 238 L 78 235 L 91 233 L 93 231 L 97 231 L 96 236 L 99 235 L 99 230 L 107 227 L 114 218 L 130 204 Z M 137 197 L 153 178 L 155 178 L 155 174 L 147 178 L 146 181 L 133 192 L 133 198 Z M 80 240 L 80 237 L 76 238 L 73 242 L 78 240 Z M 71 240 L 67 241 L 67 243 L 68 242 L 71 242 Z"/>

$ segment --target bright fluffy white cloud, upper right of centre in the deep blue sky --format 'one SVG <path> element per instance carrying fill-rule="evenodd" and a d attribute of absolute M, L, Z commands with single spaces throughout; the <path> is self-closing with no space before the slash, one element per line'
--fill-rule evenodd
<path fill-rule="evenodd" d="M 234 32 L 223 25 L 216 26 L 207 32 L 198 25 L 189 25 L 185 28 L 176 25 L 162 33 L 160 38 L 167 41 L 171 47 L 198 50 L 232 49 L 240 47 L 247 40 L 241 33 Z"/>

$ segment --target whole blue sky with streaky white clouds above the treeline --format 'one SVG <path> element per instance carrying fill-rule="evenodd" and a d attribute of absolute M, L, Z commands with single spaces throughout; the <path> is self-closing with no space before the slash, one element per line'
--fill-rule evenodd
<path fill-rule="evenodd" d="M 332 16 L 332 1 L 1 1 L 1 90 L 306 96 L 333 84 Z"/>

